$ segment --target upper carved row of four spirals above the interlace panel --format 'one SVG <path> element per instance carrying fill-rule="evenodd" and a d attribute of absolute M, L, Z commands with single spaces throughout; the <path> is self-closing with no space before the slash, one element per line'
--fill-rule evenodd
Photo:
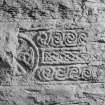
<path fill-rule="evenodd" d="M 88 33 L 71 31 L 39 31 L 36 34 L 36 45 L 38 47 L 72 47 L 81 46 L 87 43 Z"/>

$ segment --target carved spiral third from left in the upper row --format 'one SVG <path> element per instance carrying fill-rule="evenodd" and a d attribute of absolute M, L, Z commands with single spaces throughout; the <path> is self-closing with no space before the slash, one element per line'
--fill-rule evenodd
<path fill-rule="evenodd" d="M 70 46 L 72 44 L 76 44 L 77 36 L 73 32 L 66 32 L 65 33 L 65 45 Z"/>

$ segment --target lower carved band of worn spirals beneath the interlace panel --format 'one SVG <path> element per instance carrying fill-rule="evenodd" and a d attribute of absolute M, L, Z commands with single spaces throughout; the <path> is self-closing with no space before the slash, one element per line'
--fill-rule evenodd
<path fill-rule="evenodd" d="M 58 66 L 41 67 L 36 70 L 35 78 L 41 81 L 89 81 L 104 82 L 104 70 L 99 66 Z M 105 74 L 104 74 L 105 75 Z"/>

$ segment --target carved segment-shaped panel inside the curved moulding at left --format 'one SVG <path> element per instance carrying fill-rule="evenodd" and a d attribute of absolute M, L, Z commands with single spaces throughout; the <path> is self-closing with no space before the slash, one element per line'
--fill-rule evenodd
<path fill-rule="evenodd" d="M 26 71 L 33 71 L 37 65 L 38 54 L 37 50 L 32 43 L 25 39 L 19 37 L 19 46 L 17 48 L 17 62 L 20 63 Z"/>

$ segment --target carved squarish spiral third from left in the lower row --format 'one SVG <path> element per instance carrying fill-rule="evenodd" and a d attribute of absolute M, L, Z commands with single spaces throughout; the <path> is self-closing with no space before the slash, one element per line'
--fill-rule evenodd
<path fill-rule="evenodd" d="M 78 67 L 69 68 L 69 79 L 78 80 L 80 78 L 80 72 Z"/>

